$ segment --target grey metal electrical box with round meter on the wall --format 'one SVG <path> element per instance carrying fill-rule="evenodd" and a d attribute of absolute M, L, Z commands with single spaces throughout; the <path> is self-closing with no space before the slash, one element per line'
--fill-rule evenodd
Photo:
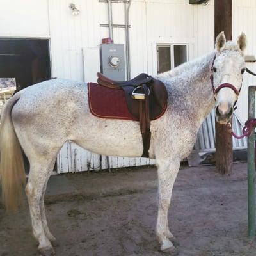
<path fill-rule="evenodd" d="M 109 79 L 125 80 L 124 44 L 100 44 L 100 72 Z"/>

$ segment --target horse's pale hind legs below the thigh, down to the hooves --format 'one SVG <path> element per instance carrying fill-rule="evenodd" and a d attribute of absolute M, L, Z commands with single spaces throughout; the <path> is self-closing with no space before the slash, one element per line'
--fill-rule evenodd
<path fill-rule="evenodd" d="M 42 256 L 54 255 L 54 250 L 49 241 L 51 237 L 47 237 L 47 234 L 45 234 L 44 225 L 47 225 L 46 217 L 42 214 L 42 209 L 40 209 L 40 202 L 44 198 L 44 188 L 46 189 L 47 180 L 52 172 L 54 157 L 44 156 L 33 157 L 32 160 L 29 159 L 30 172 L 26 186 L 26 195 L 28 197 L 33 235 L 39 242 L 38 250 Z"/>

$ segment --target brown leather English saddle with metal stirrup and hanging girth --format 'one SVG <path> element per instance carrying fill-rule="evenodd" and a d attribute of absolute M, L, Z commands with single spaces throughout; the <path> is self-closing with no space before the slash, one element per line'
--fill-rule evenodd
<path fill-rule="evenodd" d="M 167 108 L 167 91 L 163 82 L 142 73 L 129 81 L 113 81 L 98 73 L 98 84 L 123 90 L 129 112 L 140 122 L 143 154 L 148 157 L 150 147 L 150 121 L 162 116 Z"/>

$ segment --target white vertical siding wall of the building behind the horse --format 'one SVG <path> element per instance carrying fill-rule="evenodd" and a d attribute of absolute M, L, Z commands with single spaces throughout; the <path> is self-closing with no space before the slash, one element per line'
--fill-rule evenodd
<path fill-rule="evenodd" d="M 81 11 L 72 16 L 68 5 Z M 50 37 L 53 77 L 77 81 L 95 81 L 99 71 L 99 44 L 108 37 L 106 3 L 98 0 L 0 0 L 0 36 Z M 256 1 L 233 0 L 233 35 L 243 30 L 248 36 L 246 53 L 256 54 L 254 24 Z M 113 3 L 113 23 L 124 24 L 124 4 Z M 214 1 L 207 6 L 189 5 L 189 0 L 133 0 L 130 11 L 131 76 L 140 72 L 157 73 L 157 43 L 186 43 L 189 60 L 214 49 Z M 124 28 L 114 28 L 115 43 L 125 42 Z M 255 64 L 247 64 L 255 70 Z M 247 87 L 256 84 L 255 77 L 244 77 L 237 114 L 247 116 Z M 104 158 L 103 158 L 104 159 Z M 99 165 L 99 155 L 66 143 L 58 156 L 59 172 L 87 170 Z M 111 167 L 150 164 L 147 159 L 111 157 Z M 106 167 L 105 160 L 102 167 Z"/>

